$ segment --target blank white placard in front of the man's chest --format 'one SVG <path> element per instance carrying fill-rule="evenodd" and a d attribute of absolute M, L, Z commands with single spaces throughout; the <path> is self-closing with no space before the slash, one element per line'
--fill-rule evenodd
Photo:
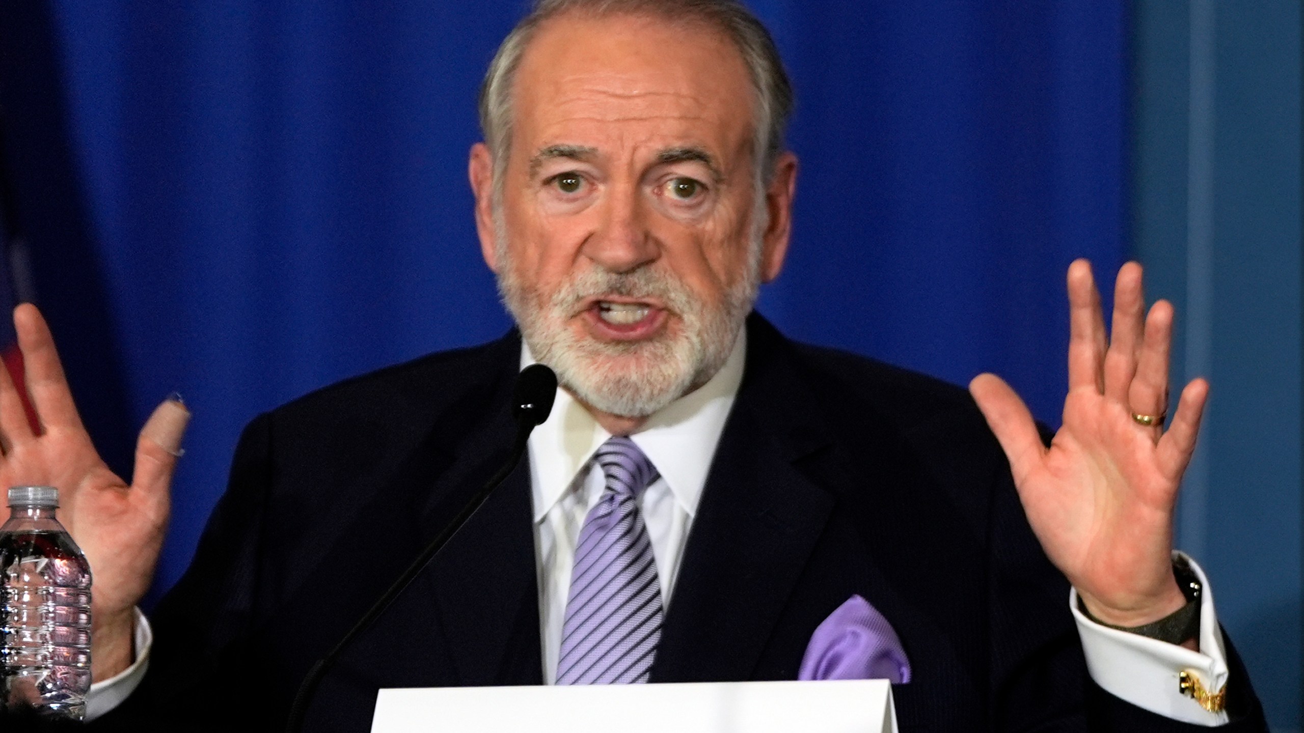
<path fill-rule="evenodd" d="M 381 690 L 372 733 L 897 733 L 885 680 Z"/>

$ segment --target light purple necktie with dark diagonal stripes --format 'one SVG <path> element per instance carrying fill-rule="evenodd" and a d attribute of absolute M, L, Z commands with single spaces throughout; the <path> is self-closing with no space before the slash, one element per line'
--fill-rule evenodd
<path fill-rule="evenodd" d="M 647 682 L 661 640 L 661 583 L 638 497 L 659 473 L 625 437 L 602 443 L 593 459 L 606 489 L 575 548 L 557 683 Z"/>

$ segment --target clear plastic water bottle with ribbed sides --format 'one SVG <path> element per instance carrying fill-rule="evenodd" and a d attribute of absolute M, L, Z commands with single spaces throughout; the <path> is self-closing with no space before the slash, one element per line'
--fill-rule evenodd
<path fill-rule="evenodd" d="M 0 526 L 4 708 L 81 720 L 90 691 L 90 565 L 55 519 L 59 489 L 13 486 Z"/>

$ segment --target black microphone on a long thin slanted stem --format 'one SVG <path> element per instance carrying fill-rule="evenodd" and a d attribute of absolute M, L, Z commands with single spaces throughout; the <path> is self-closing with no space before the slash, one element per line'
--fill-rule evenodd
<path fill-rule="evenodd" d="M 344 638 L 340 639 L 339 643 L 331 648 L 331 651 L 326 652 L 326 656 L 313 663 L 308 674 L 304 676 L 304 681 L 300 682 L 299 691 L 295 693 L 295 703 L 289 708 L 289 720 L 286 723 L 287 733 L 299 733 L 303 728 L 304 715 L 308 712 L 308 703 L 312 700 L 313 693 L 317 690 L 317 685 L 322 681 L 322 677 L 326 676 L 326 670 L 335 664 L 339 655 L 359 634 L 365 631 L 368 626 L 379 618 L 379 616 L 385 613 L 385 609 L 387 609 L 395 599 L 403 595 L 403 591 L 412 584 L 412 580 L 415 580 L 421 570 L 425 569 L 426 563 L 430 562 L 430 558 L 438 554 L 443 545 L 446 545 L 449 540 L 458 533 L 458 530 L 467 523 L 467 519 L 469 519 L 471 515 L 480 509 L 480 505 L 489 498 L 489 494 L 498 488 L 498 484 L 503 483 L 507 475 L 516 468 L 516 464 L 520 463 L 520 456 L 526 454 L 526 445 L 529 440 L 529 433 L 536 425 L 548 420 L 548 413 L 552 412 L 553 399 L 556 398 L 557 374 L 554 374 L 548 366 L 544 366 L 542 364 L 531 364 L 516 376 L 516 387 L 512 390 L 511 399 L 511 413 L 516 417 L 516 440 L 512 443 L 511 456 L 507 459 L 507 463 L 505 463 L 502 468 L 499 468 L 498 472 L 494 473 L 493 477 L 489 479 L 489 481 L 486 481 L 485 485 L 471 497 L 467 505 L 462 507 L 462 511 L 459 511 L 458 515 L 452 518 L 452 522 L 449 522 L 447 527 L 445 527 L 443 531 L 439 532 L 439 535 L 429 545 L 426 545 L 424 550 L 421 550 L 421 554 L 419 554 L 416 560 L 412 561 L 412 565 L 409 565 L 407 570 L 399 575 L 398 580 L 395 580 L 394 584 L 381 595 L 381 597 L 376 599 L 372 608 L 369 608 L 366 613 L 357 620 L 357 623 L 348 630 L 348 634 L 344 634 Z"/>

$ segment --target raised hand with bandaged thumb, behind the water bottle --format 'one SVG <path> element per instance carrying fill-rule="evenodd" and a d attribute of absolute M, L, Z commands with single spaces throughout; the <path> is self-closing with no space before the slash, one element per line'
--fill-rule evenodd
<path fill-rule="evenodd" d="M 0 368 L 0 489 L 59 488 L 59 519 L 91 567 L 91 677 L 107 680 L 132 663 L 132 609 L 154 576 L 167 531 L 168 488 L 190 413 L 173 399 L 154 411 L 137 441 L 128 485 L 91 445 L 40 312 L 22 304 L 13 323 L 39 425 L 33 429 L 8 369 Z M 8 515 L 8 506 L 0 507 L 0 516 Z"/>

